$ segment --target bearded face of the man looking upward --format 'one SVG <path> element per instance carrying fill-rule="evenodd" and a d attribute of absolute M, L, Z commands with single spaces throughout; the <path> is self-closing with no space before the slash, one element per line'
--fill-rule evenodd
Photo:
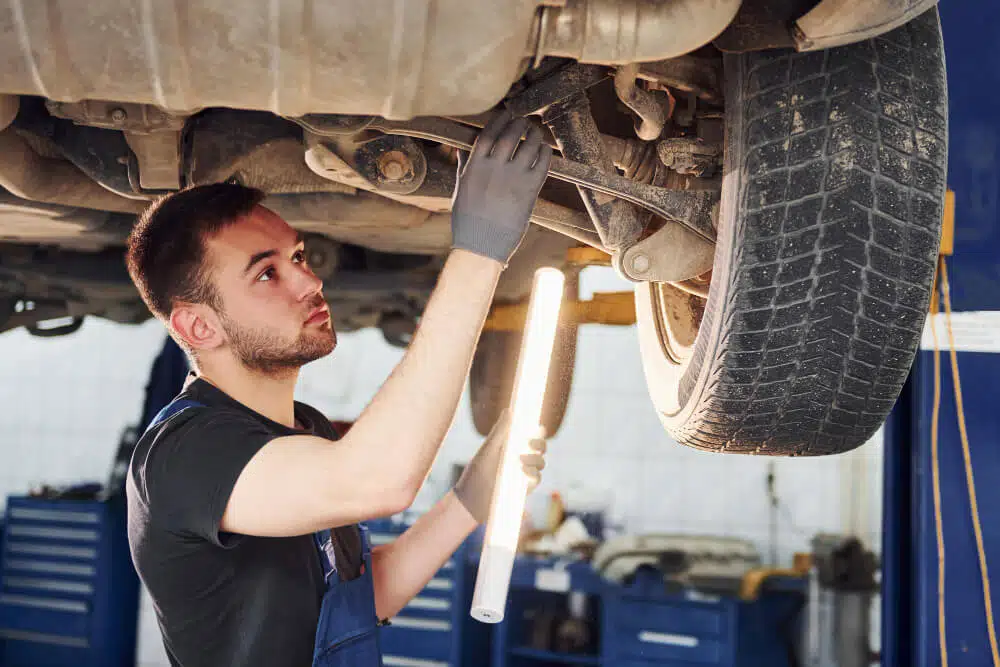
<path fill-rule="evenodd" d="M 323 282 L 305 258 L 295 230 L 262 206 L 206 242 L 223 332 L 245 367 L 297 370 L 336 347 Z"/>

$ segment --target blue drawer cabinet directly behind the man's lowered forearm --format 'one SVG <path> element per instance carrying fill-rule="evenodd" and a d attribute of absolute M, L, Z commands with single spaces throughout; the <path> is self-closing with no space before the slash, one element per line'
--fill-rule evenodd
<path fill-rule="evenodd" d="M 372 547 L 396 539 L 409 525 L 403 521 L 366 523 Z M 489 628 L 472 620 L 473 574 L 463 545 L 420 593 L 387 626 L 380 629 L 386 667 L 460 667 L 485 665 Z"/>

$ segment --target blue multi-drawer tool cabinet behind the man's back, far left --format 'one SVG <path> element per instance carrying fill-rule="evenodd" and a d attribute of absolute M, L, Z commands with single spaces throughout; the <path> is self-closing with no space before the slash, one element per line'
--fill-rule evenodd
<path fill-rule="evenodd" d="M 138 599 L 123 506 L 8 498 L 0 665 L 131 667 Z"/>

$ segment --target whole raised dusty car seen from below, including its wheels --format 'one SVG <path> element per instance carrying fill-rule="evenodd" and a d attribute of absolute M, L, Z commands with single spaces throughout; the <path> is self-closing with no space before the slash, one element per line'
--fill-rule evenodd
<path fill-rule="evenodd" d="M 121 259 L 136 216 L 232 181 L 307 235 L 338 329 L 405 346 L 450 247 L 458 151 L 505 107 L 557 157 L 497 302 L 597 248 L 635 286 L 679 442 L 846 451 L 919 338 L 946 97 L 933 2 L 828 3 L 12 3 L 0 331 L 149 318 Z M 502 385 L 516 340 L 486 332 L 473 376 Z M 492 415 L 509 394 L 487 393 Z"/>

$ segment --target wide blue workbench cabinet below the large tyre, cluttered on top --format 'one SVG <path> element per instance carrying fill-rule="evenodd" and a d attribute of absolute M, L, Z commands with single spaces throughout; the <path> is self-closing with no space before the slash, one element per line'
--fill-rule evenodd
<path fill-rule="evenodd" d="M 527 621 L 568 593 L 585 596 L 594 619 L 586 650 L 533 646 Z M 511 577 L 505 622 L 496 626 L 492 667 L 793 667 L 803 584 L 784 581 L 754 601 L 668 592 L 655 573 L 629 585 L 602 579 L 586 563 L 519 558 Z M 537 643 L 537 638 L 536 638 Z"/>

